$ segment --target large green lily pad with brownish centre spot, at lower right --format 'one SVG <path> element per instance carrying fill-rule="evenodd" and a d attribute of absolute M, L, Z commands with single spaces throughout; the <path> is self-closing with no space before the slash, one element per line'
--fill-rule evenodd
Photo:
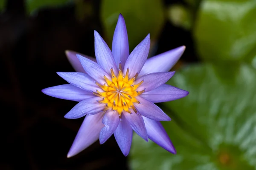
<path fill-rule="evenodd" d="M 133 170 L 255 170 L 256 70 L 236 65 L 224 71 L 201 64 L 177 72 L 168 84 L 190 93 L 161 107 L 172 118 L 162 123 L 177 154 L 136 135 Z"/>

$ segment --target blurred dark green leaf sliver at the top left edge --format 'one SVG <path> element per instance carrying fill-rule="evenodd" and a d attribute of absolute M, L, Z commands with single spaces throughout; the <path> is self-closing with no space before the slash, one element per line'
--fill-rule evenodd
<path fill-rule="evenodd" d="M 26 8 L 29 14 L 42 7 L 62 6 L 73 0 L 26 0 Z"/>

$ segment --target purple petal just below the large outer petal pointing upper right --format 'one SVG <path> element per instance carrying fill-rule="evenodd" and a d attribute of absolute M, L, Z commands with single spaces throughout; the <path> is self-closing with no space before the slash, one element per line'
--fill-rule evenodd
<path fill-rule="evenodd" d="M 144 75 L 143 77 L 137 79 L 135 84 L 143 83 L 137 88 L 138 91 L 145 89 L 145 92 L 151 91 L 152 89 L 156 89 L 162 84 L 166 83 L 175 72 L 155 72 L 148 75 Z"/>

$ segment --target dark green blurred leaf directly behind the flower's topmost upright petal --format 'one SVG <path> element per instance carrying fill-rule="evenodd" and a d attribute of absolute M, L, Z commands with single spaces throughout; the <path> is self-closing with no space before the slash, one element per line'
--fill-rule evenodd
<path fill-rule="evenodd" d="M 151 40 L 155 40 L 164 22 L 161 0 L 102 0 L 100 11 L 109 46 L 111 46 L 117 18 L 120 13 L 123 15 L 128 32 L 130 51 L 148 33 L 151 35 Z"/>

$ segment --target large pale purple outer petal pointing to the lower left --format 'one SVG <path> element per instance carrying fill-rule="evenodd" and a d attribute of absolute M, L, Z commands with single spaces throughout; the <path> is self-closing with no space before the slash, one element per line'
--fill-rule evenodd
<path fill-rule="evenodd" d="M 76 135 L 76 138 L 67 154 L 67 157 L 75 156 L 99 139 L 99 132 L 104 127 L 103 114 L 87 115 Z"/>

